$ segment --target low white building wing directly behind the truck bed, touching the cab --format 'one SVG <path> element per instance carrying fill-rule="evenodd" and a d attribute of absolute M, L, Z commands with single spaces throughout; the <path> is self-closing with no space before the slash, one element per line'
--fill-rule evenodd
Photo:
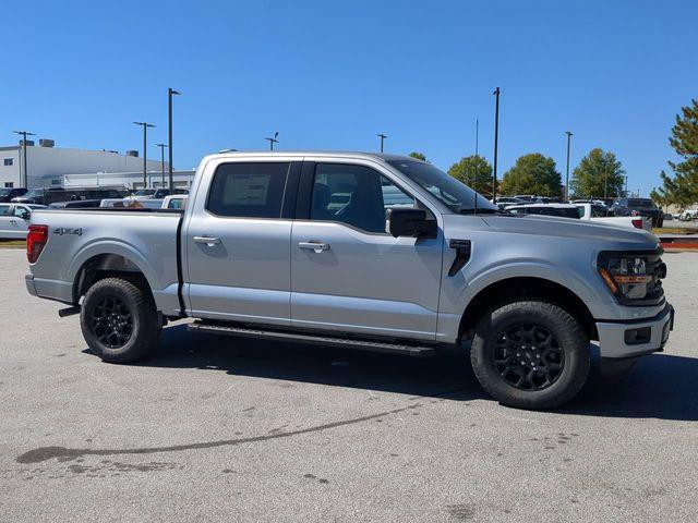
<path fill-rule="evenodd" d="M 167 169 L 167 166 L 166 166 Z M 172 183 L 177 188 L 189 188 L 194 180 L 195 171 L 172 171 Z M 160 188 L 168 186 L 168 173 L 161 171 L 147 172 L 147 188 Z M 165 180 L 165 185 L 163 185 Z M 46 177 L 44 180 L 46 187 L 124 187 L 142 188 L 143 171 L 140 172 L 92 172 L 92 173 L 69 173 L 60 177 Z"/>

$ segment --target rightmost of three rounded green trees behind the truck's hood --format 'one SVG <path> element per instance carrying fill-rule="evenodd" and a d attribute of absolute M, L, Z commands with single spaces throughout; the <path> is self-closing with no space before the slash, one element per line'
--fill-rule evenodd
<path fill-rule="evenodd" d="M 613 153 L 595 147 L 575 167 L 569 185 L 581 198 L 621 196 L 625 171 Z"/>

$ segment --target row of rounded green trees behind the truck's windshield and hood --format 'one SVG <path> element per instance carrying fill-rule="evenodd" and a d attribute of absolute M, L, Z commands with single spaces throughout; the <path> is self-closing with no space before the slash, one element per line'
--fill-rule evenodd
<path fill-rule="evenodd" d="M 422 153 L 410 156 L 426 161 Z M 448 169 L 448 174 L 486 197 L 492 197 L 492 165 L 480 155 L 466 156 Z M 569 180 L 570 197 L 616 197 L 623 195 L 625 170 L 615 155 L 595 147 L 575 167 Z M 565 187 L 555 160 L 540 153 L 517 158 L 497 180 L 497 195 L 533 194 L 561 198 Z"/>

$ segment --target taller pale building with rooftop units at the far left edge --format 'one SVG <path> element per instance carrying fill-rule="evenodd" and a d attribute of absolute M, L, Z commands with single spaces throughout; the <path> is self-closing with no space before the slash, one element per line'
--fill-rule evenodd
<path fill-rule="evenodd" d="M 27 142 L 26 163 L 28 188 L 60 186 L 60 178 L 68 173 L 143 172 L 143 158 L 137 151 L 120 155 L 116 150 L 64 149 L 53 147 L 53 141 L 40 139 L 39 145 Z M 24 175 L 24 154 L 21 145 L 0 147 L 0 186 L 21 187 Z M 167 163 L 165 169 L 167 170 Z M 148 171 L 160 171 L 159 160 L 147 160 Z M 48 184 L 47 184 L 48 181 Z M 141 175 L 143 185 L 143 175 Z"/>

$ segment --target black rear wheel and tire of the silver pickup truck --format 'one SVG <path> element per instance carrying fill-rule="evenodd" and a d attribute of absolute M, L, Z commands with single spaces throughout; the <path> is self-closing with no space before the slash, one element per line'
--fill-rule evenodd
<path fill-rule="evenodd" d="M 158 344 L 161 325 L 149 292 L 121 278 L 105 278 L 83 300 L 80 327 L 89 348 L 108 363 L 131 363 Z"/>

